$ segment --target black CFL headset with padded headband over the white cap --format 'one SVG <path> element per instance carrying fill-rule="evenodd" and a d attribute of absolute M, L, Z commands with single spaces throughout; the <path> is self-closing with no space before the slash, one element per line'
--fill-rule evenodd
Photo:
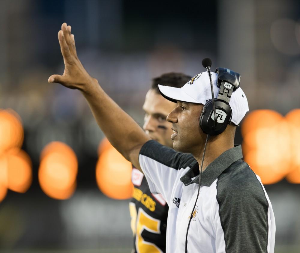
<path fill-rule="evenodd" d="M 212 100 L 205 103 L 199 119 L 202 131 L 209 135 L 224 132 L 227 125 L 231 123 L 232 110 L 229 101 L 232 92 L 239 87 L 241 80 L 239 73 L 227 68 L 217 68 L 215 72 L 218 74 L 217 87 L 220 88 L 217 99 L 214 99 L 217 121 L 214 120 Z"/>

